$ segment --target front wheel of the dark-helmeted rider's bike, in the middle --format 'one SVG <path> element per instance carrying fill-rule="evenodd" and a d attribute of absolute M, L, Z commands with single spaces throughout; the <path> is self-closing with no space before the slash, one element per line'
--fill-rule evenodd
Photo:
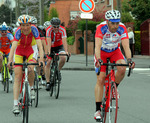
<path fill-rule="evenodd" d="M 60 80 L 58 70 L 54 73 L 54 90 L 55 90 L 55 98 L 58 99 L 59 96 L 59 90 L 60 90 Z"/>

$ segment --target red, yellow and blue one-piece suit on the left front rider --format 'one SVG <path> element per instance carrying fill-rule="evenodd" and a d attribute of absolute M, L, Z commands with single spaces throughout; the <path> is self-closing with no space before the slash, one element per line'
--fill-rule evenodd
<path fill-rule="evenodd" d="M 18 41 L 18 46 L 15 52 L 16 63 L 22 63 L 23 56 L 27 58 L 27 61 L 34 61 L 33 58 L 37 60 L 37 39 L 40 39 L 40 36 L 36 26 L 31 25 L 30 33 L 27 36 L 22 33 L 20 27 L 17 28 L 14 35 L 14 41 Z"/>

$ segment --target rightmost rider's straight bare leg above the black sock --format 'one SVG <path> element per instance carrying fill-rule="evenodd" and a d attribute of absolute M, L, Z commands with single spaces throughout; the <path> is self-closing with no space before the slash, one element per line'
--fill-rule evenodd
<path fill-rule="evenodd" d="M 102 102 L 105 76 L 105 72 L 100 72 L 100 75 L 97 76 L 97 83 L 95 86 L 95 102 Z"/>

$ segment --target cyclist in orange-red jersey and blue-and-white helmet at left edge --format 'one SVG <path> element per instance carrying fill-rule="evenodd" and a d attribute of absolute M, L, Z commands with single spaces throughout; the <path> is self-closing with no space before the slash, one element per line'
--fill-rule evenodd
<path fill-rule="evenodd" d="M 0 29 L 0 72 L 2 69 L 2 61 L 3 61 L 3 54 L 5 53 L 8 57 L 10 52 L 11 42 L 13 41 L 13 35 L 8 31 L 8 26 L 5 22 L 1 25 Z M 11 79 L 11 75 L 10 75 Z M 0 80 L 2 80 L 2 74 L 0 73 Z"/>

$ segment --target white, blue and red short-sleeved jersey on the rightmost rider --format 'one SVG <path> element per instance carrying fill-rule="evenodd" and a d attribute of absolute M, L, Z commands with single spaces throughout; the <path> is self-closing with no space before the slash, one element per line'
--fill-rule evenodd
<path fill-rule="evenodd" d="M 127 29 L 123 23 L 120 22 L 118 30 L 115 33 L 111 33 L 106 21 L 104 21 L 98 25 L 95 38 L 103 39 L 101 50 L 105 52 L 112 52 L 118 48 L 118 43 L 120 43 L 121 40 L 128 39 L 129 37 Z"/>

